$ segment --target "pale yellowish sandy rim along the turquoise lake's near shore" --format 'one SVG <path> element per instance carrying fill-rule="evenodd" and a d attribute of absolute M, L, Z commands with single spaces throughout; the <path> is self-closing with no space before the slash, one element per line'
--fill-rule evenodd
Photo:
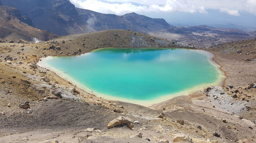
<path fill-rule="evenodd" d="M 98 50 L 98 49 L 97 49 Z M 191 50 L 191 49 L 190 49 Z M 94 50 L 95 51 L 95 50 Z M 74 78 L 72 78 L 71 76 L 69 76 L 68 74 L 66 74 L 65 72 L 62 72 L 50 65 L 47 64 L 47 61 L 54 58 L 53 56 L 48 56 L 47 58 L 41 58 L 41 60 L 37 63 L 38 66 L 42 67 L 42 68 L 46 68 L 48 70 L 51 70 L 52 72 L 56 73 L 57 75 L 59 75 L 61 78 L 70 81 L 71 83 L 73 83 L 74 85 L 76 85 L 78 88 L 94 94 L 98 97 L 101 97 L 103 99 L 108 99 L 108 100 L 114 100 L 114 101 L 122 101 L 122 102 L 128 102 L 128 103 L 133 103 L 133 104 L 138 104 L 138 105 L 143 105 L 146 107 L 152 106 L 154 104 L 160 104 L 162 102 L 168 101 L 169 99 L 172 99 L 174 97 L 178 97 L 178 96 L 182 96 L 182 95 L 188 95 L 188 94 L 192 94 L 195 93 L 197 91 L 203 90 L 207 87 L 211 87 L 211 86 L 215 86 L 215 85 L 222 85 L 224 79 L 226 78 L 225 74 L 222 72 L 222 70 L 220 69 L 221 66 L 218 65 L 215 61 L 212 60 L 212 58 L 214 57 L 214 54 L 208 52 L 208 51 L 204 51 L 204 50 L 194 50 L 192 49 L 191 51 L 193 52 L 198 52 L 200 54 L 204 54 L 207 56 L 207 60 L 209 63 L 211 63 L 212 65 L 214 65 L 219 73 L 218 79 L 213 82 L 213 83 L 205 83 L 205 84 L 200 84 L 200 85 L 196 85 L 193 88 L 184 90 L 182 92 L 179 93 L 175 93 L 172 95 L 164 95 L 158 99 L 152 99 L 152 100 L 133 100 L 133 99 L 126 99 L 126 98 L 120 98 L 120 97 L 113 97 L 111 95 L 105 95 L 105 94 L 100 94 L 97 93 L 93 90 L 90 90 L 88 87 L 86 87 L 85 85 L 83 85 L 82 83 L 76 81 Z M 90 54 L 89 53 L 84 53 L 83 55 L 86 54 Z"/>

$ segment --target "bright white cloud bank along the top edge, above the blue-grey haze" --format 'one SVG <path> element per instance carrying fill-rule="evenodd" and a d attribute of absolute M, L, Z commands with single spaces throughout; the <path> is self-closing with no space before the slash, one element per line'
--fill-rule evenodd
<path fill-rule="evenodd" d="M 256 0 L 121 0 L 118 2 L 117 0 L 70 0 L 70 2 L 79 8 L 117 15 L 129 12 L 207 13 L 207 9 L 219 9 L 234 16 L 240 16 L 240 11 L 256 14 Z"/>

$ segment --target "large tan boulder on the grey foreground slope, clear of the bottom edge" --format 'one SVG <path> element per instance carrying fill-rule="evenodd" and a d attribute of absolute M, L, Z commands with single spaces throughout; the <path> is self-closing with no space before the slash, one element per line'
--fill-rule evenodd
<path fill-rule="evenodd" d="M 122 124 L 126 124 L 130 129 L 134 127 L 134 122 L 130 118 L 119 116 L 108 124 L 108 129 Z"/>

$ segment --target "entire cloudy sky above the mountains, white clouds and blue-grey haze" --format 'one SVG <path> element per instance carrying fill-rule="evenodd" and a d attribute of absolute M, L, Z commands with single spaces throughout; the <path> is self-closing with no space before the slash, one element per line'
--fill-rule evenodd
<path fill-rule="evenodd" d="M 207 24 L 205 22 L 212 21 L 211 23 L 214 24 L 237 24 L 248 27 L 255 25 L 256 27 L 256 0 L 70 0 L 70 2 L 78 8 L 100 13 L 123 15 L 136 12 L 164 18 L 167 22 L 175 24 Z M 193 21 L 184 20 L 182 22 L 179 16 L 189 18 L 190 21 L 193 20 L 191 17 L 199 18 L 201 22 L 193 23 Z M 252 18 L 255 20 L 251 20 Z M 241 20 L 245 20 L 244 23 L 241 24 Z"/>

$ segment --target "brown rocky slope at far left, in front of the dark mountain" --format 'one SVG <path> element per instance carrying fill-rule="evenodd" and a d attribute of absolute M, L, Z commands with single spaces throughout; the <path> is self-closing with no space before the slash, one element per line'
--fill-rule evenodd
<path fill-rule="evenodd" d="M 0 42 L 48 41 L 57 35 L 32 27 L 32 21 L 15 8 L 0 6 Z"/>

